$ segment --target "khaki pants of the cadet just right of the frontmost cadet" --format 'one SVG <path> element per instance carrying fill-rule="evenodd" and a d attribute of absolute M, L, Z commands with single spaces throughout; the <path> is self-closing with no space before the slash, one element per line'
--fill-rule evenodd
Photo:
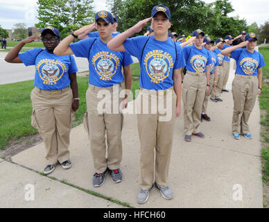
<path fill-rule="evenodd" d="M 207 77 L 187 71 L 182 84 L 182 100 L 184 107 L 184 133 L 199 133 L 202 103 L 207 89 Z"/>

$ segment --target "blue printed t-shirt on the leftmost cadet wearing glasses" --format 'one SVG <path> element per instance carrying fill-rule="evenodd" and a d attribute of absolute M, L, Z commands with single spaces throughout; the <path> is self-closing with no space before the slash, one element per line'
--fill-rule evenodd
<path fill-rule="evenodd" d="M 69 74 L 78 68 L 73 56 L 57 56 L 46 49 L 31 49 L 19 53 L 24 65 L 35 65 L 34 85 L 43 90 L 58 90 L 70 85 Z"/>

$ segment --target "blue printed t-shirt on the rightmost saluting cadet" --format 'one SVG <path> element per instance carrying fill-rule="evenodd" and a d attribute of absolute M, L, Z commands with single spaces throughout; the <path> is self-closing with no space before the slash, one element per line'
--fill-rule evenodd
<path fill-rule="evenodd" d="M 256 50 L 250 53 L 247 49 L 236 49 L 231 52 L 231 58 L 236 60 L 236 74 L 239 75 L 257 76 L 258 69 L 266 65 L 263 55 Z"/>

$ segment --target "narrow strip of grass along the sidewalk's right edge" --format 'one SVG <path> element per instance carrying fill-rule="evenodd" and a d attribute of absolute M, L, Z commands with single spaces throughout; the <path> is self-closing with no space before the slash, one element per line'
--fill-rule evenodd
<path fill-rule="evenodd" d="M 266 66 L 263 67 L 263 86 L 261 95 L 259 95 L 259 103 L 261 110 L 265 110 L 266 114 L 261 117 L 261 125 L 264 126 L 264 132 L 261 132 L 263 143 L 266 148 L 263 149 L 261 157 L 263 160 L 263 180 L 269 182 L 269 47 L 260 47 L 259 52 L 263 54 Z"/>

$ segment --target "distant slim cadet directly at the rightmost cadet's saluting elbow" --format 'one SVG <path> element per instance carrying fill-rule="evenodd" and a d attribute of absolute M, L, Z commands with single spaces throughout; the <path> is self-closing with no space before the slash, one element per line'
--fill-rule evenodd
<path fill-rule="evenodd" d="M 216 87 L 213 88 L 211 95 L 210 95 L 210 100 L 214 102 L 221 102 L 223 99 L 220 99 L 220 94 L 221 90 L 223 89 L 223 59 L 224 56 L 221 54 L 221 51 L 223 50 L 225 41 L 223 38 L 218 38 L 216 40 L 216 46 L 214 46 L 211 51 L 214 51 L 216 53 L 217 58 L 218 58 L 218 71 L 217 71 L 217 77 L 216 80 L 214 80 L 214 83 L 216 83 Z"/>

